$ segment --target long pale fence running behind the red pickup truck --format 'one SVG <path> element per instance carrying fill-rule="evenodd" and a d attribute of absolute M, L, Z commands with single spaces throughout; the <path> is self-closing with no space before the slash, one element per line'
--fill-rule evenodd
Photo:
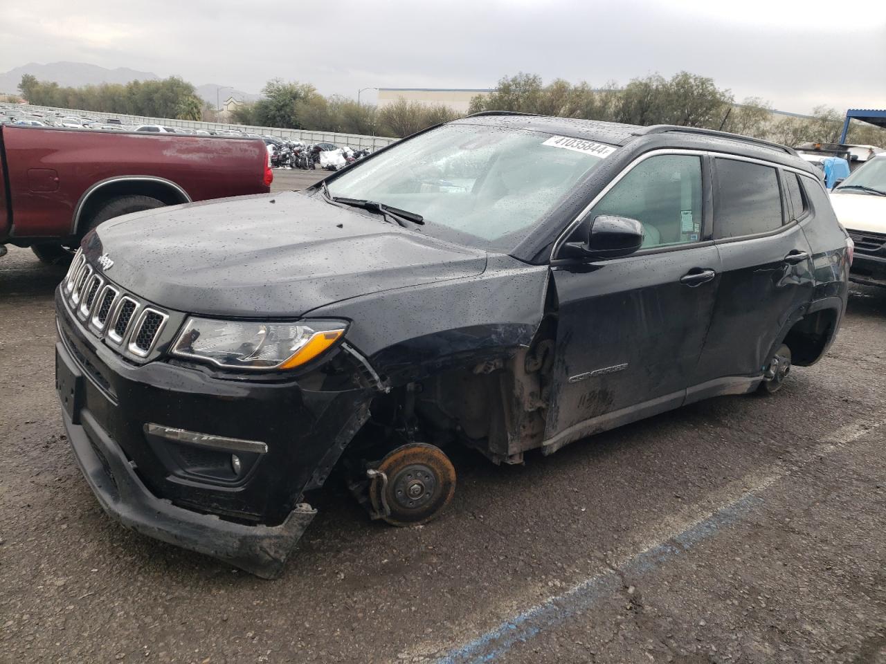
<path fill-rule="evenodd" d="M 183 127 L 185 129 L 203 129 L 204 131 L 239 131 L 245 134 L 258 134 L 289 138 L 294 141 L 305 143 L 335 143 L 338 146 L 345 145 L 354 150 L 375 151 L 385 145 L 396 142 L 398 139 L 387 136 L 365 136 L 360 134 L 339 134 L 330 131 L 307 131 L 304 129 L 281 129 L 279 127 L 254 127 L 253 125 L 232 125 L 224 122 L 202 122 L 199 120 L 175 120 L 172 118 L 147 118 L 142 115 L 125 115 L 123 113 L 103 113 L 97 111 L 78 111 L 71 108 L 53 108 L 51 106 L 32 106 L 20 104 L 18 106 L 24 112 L 62 112 L 78 115 L 82 118 L 94 120 L 113 119 L 120 120 L 124 125 L 161 125 L 163 127 Z"/>

